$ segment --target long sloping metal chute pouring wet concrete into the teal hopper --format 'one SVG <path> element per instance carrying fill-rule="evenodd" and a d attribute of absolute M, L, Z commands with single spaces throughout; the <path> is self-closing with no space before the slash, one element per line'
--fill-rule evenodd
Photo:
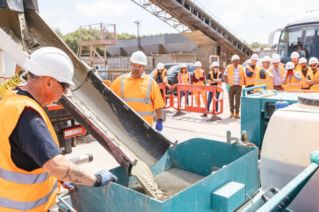
<path fill-rule="evenodd" d="M 9 1 L 0 0 L 0 5 L 7 6 L 7 2 Z M 51 46 L 64 51 L 73 62 L 72 81 L 75 86 L 71 87 L 68 95 L 63 95 L 59 103 L 112 154 L 124 167 L 126 174 L 130 174 L 130 169 L 136 164 L 137 158 L 152 167 L 173 143 L 103 84 L 95 75 L 94 68 L 90 69 L 77 58 L 35 11 L 32 0 L 10 2 L 19 4 L 23 10 L 14 13 L 10 7 L 0 9 L 2 20 L 24 16 L 24 22 L 18 28 L 17 22 L 13 24 L 10 21 L 1 21 L 10 25 L 0 25 L 0 49 L 22 68 L 26 58 L 41 47 Z M 11 12 L 12 17 L 7 15 Z M 21 26 L 24 26 L 24 31 Z"/>

